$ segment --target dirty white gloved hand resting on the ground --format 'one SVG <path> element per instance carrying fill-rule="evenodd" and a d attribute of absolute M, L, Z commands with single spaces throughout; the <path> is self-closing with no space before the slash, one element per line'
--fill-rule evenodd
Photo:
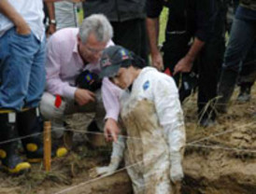
<path fill-rule="evenodd" d="M 97 176 L 107 176 L 116 172 L 120 164 L 120 159 L 111 159 L 111 162 L 108 166 L 95 167 L 92 168 L 89 172 L 92 178 Z"/>

